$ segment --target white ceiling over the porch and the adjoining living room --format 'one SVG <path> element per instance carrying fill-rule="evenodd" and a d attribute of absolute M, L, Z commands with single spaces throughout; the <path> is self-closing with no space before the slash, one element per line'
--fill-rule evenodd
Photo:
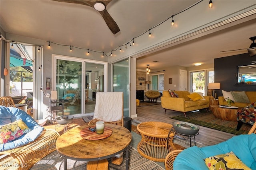
<path fill-rule="evenodd" d="M 106 9 L 120 28 L 115 35 L 89 6 L 51 0 L 0 0 L 0 25 L 6 33 L 110 52 L 198 0 L 115 0 Z M 256 36 L 256 17 L 239 25 L 177 43 L 137 59 L 137 68 L 211 64 L 214 58 L 247 53 L 220 51 L 248 48 Z M 256 60 L 256 59 L 254 59 Z M 153 61 L 158 61 L 153 63 Z M 166 62 L 168 61 L 168 62 Z"/>

